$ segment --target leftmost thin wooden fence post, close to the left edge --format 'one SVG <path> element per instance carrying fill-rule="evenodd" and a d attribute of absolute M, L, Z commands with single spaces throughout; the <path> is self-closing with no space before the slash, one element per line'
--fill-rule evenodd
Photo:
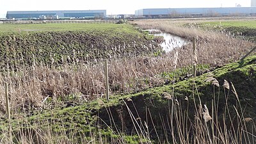
<path fill-rule="evenodd" d="M 6 101 L 6 113 L 8 116 L 8 132 L 9 132 L 9 138 L 10 138 L 10 143 L 12 143 L 12 125 L 11 125 L 11 113 L 10 113 L 10 103 L 9 103 L 9 95 L 8 95 L 8 83 L 4 83 L 5 87 L 5 101 Z"/>

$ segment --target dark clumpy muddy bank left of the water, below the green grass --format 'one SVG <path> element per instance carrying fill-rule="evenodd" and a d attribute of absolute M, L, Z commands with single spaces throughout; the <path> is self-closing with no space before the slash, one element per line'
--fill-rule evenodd
<path fill-rule="evenodd" d="M 152 36 L 118 31 L 51 31 L 0 36 L 1 67 L 98 61 L 150 54 L 160 47 Z"/>

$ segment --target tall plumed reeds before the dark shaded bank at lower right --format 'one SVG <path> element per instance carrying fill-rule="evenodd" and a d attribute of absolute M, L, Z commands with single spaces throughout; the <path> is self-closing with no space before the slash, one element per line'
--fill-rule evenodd
<path fill-rule="evenodd" d="M 125 106 L 132 120 L 134 133 L 141 136 L 145 143 L 255 143 L 255 122 L 248 117 L 247 106 L 241 99 L 232 82 L 224 80 L 223 85 L 216 78 L 208 76 L 205 83 L 211 84 L 214 93 L 207 93 L 202 100 L 198 86 L 193 82 L 193 95 L 180 99 L 175 95 L 173 82 L 172 92 L 163 92 L 168 100 L 168 113 L 141 109 L 143 104 L 131 99 Z M 223 92 L 221 92 L 223 91 Z M 142 99 L 142 98 L 141 98 Z M 147 99 L 147 98 L 144 98 Z M 222 102 L 221 100 L 225 100 Z M 131 104 L 132 103 L 132 104 Z M 156 104 L 152 101 L 152 105 Z M 154 107 L 154 106 L 153 106 Z M 152 108 L 152 107 L 151 107 Z M 135 110 L 131 110 L 135 109 Z M 143 115 L 139 115 L 138 111 Z M 154 112 L 152 112 L 154 111 Z M 154 117 L 154 116 L 157 117 Z M 143 118 L 143 117 L 146 118 Z M 143 118 L 141 120 L 141 118 Z M 144 121 L 145 120 L 145 121 Z"/>

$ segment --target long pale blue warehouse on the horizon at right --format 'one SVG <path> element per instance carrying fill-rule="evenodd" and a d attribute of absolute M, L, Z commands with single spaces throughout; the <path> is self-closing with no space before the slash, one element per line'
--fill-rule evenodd
<path fill-rule="evenodd" d="M 255 0 L 253 0 L 255 1 Z M 255 16 L 256 7 L 230 8 L 151 8 L 135 11 L 136 17 L 218 17 L 218 16 Z"/>

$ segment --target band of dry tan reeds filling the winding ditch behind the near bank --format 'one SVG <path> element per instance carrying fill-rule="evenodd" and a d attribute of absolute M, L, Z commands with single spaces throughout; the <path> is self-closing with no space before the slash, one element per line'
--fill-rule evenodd
<path fill-rule="evenodd" d="M 217 67 L 236 61 L 252 47 L 251 42 L 235 39 L 230 35 L 205 32 L 196 28 L 181 28 L 168 22 L 163 24 L 140 24 L 142 28 L 154 26 L 168 33 L 188 38 L 196 37 L 198 64 Z M 172 43 L 172 42 L 169 42 Z M 193 59 L 192 44 L 174 49 L 168 54 L 118 58 L 109 60 L 109 85 L 111 93 L 131 92 L 165 83 L 163 72 L 173 71 L 173 56 L 179 54 L 177 68 L 190 67 Z M 33 59 L 33 58 L 31 58 Z M 52 60 L 54 61 L 54 59 Z M 54 63 L 54 62 L 53 62 Z M 10 67 L 13 67 L 10 65 Z M 4 93 L 4 82 L 10 85 L 10 104 L 13 109 L 42 107 L 51 99 L 68 100 L 76 97 L 92 100 L 104 95 L 104 65 L 93 61 L 84 64 L 79 60 L 73 65 L 45 66 L 33 62 L 32 67 L 7 70 L 0 76 L 0 93 Z M 1 111 L 4 112 L 4 96 L 1 95 Z M 32 105 L 31 105 L 32 104 Z"/>

